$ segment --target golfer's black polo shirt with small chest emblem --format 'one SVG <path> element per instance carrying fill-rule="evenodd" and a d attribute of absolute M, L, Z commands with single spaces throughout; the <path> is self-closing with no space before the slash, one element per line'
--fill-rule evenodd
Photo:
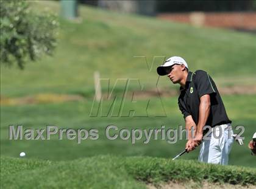
<path fill-rule="evenodd" d="M 198 124 L 200 97 L 205 94 L 209 94 L 211 100 L 210 115 L 205 125 L 213 127 L 231 123 L 214 81 L 204 70 L 188 72 L 185 88 L 180 87 L 178 104 L 184 119 L 191 115 L 196 125 Z"/>

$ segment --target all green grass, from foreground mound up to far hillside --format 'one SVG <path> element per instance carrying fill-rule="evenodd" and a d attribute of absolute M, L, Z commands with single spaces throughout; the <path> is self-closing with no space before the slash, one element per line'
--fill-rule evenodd
<path fill-rule="evenodd" d="M 31 4 L 35 11 L 49 7 L 51 11 L 59 12 L 57 2 Z M 171 85 L 165 77 L 158 78 L 155 68 L 162 64 L 163 57 L 172 55 L 184 57 L 191 70 L 207 70 L 217 86 L 255 86 L 255 35 L 196 28 L 91 7 L 80 6 L 79 9 L 81 22 L 60 19 L 59 45 L 53 57 L 29 62 L 24 70 L 1 65 L 1 97 L 43 93 L 85 97 L 83 101 L 65 103 L 1 104 L 1 188 L 145 188 L 144 182 L 158 184 L 184 178 L 196 182 L 205 179 L 208 182 L 255 184 L 255 157 L 247 148 L 255 132 L 255 95 L 223 96 L 233 128 L 245 126 L 244 145 L 234 143 L 229 163 L 246 168 L 198 163 L 195 161 L 198 149 L 171 162 L 169 159 L 184 148 L 185 140 L 169 144 L 158 136 L 158 140 L 151 139 L 148 144 L 143 143 L 144 138 L 132 144 L 130 140 L 108 140 L 105 137 L 105 128 L 110 124 L 129 130 L 184 125 L 177 97 L 162 98 L 162 103 L 156 97 L 148 98 L 148 117 L 89 116 L 94 71 L 98 70 L 101 78 L 110 80 L 110 88 L 118 78 L 135 78 L 141 86 L 137 80 L 132 80 L 129 92 L 140 91 L 141 87 L 143 91 L 155 89 L 157 81 L 159 89 L 168 91 L 178 86 Z M 144 56 L 147 62 L 145 58 L 134 56 Z M 125 86 L 124 80 L 118 82 L 115 94 L 121 94 Z M 108 91 L 107 80 L 102 81 L 102 90 Z M 135 115 L 146 115 L 147 97 L 136 100 L 136 103 L 132 102 L 127 96 L 124 115 L 130 110 L 134 110 Z M 116 103 L 120 102 L 118 97 Z M 107 114 L 110 105 L 111 101 L 104 101 L 103 114 Z M 166 117 L 157 117 L 164 115 L 163 107 Z M 94 107 L 93 113 L 96 110 Z M 117 113 L 115 109 L 113 114 Z M 66 137 L 63 140 L 57 137 L 51 140 L 9 140 L 9 125 L 33 129 L 46 128 L 46 125 L 94 128 L 99 130 L 99 139 L 87 139 L 80 145 Z M 16 158 L 21 151 L 26 152 L 25 159 Z"/>

